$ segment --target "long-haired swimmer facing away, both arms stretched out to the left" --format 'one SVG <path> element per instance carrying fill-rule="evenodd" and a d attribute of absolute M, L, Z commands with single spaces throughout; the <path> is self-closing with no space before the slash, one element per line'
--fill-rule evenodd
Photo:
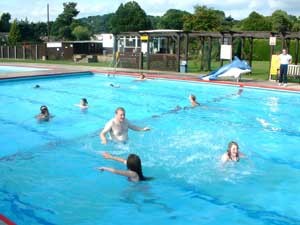
<path fill-rule="evenodd" d="M 128 178 L 129 181 L 138 182 L 150 180 L 149 177 L 144 177 L 142 171 L 142 162 L 138 155 L 130 154 L 126 159 L 113 156 L 107 152 L 102 153 L 103 158 L 114 160 L 123 163 L 127 166 L 127 170 L 119 170 L 111 167 L 98 167 L 100 171 L 108 171 L 114 174 L 122 175 Z"/>

